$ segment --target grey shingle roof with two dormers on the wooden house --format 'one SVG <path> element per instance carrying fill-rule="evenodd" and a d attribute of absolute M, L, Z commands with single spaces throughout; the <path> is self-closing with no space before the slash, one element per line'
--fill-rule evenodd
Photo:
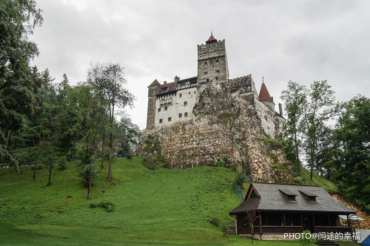
<path fill-rule="evenodd" d="M 258 196 L 253 196 L 245 200 L 231 212 L 230 215 L 245 212 L 245 210 L 278 210 L 278 211 L 312 211 L 312 212 L 338 212 L 339 214 L 356 213 L 343 204 L 340 204 L 327 193 L 321 186 L 303 186 L 295 184 L 273 184 L 273 183 L 254 183 L 249 186 L 249 190 L 254 187 Z M 288 201 L 282 191 L 296 195 L 295 202 Z M 248 191 L 249 193 L 249 191 Z M 317 196 L 316 202 L 310 202 L 305 195 Z"/>

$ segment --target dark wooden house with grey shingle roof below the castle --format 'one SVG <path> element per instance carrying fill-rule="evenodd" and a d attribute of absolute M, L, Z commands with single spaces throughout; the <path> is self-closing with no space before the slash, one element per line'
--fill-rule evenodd
<path fill-rule="evenodd" d="M 253 234 L 263 240 L 282 239 L 284 233 L 346 233 L 350 226 L 341 226 L 339 215 L 356 214 L 340 204 L 321 186 L 254 183 L 249 186 L 244 201 L 231 212 L 235 217 L 236 235 L 251 235 L 246 211 L 255 209 L 259 219 Z"/>

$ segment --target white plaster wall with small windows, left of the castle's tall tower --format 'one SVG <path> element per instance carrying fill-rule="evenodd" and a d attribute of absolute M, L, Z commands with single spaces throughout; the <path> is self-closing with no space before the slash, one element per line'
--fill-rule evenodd
<path fill-rule="evenodd" d="M 190 94 L 189 94 L 190 92 Z M 186 121 L 193 118 L 193 107 L 195 105 L 196 98 L 196 87 L 182 89 L 176 91 L 176 96 L 168 97 L 172 98 L 172 105 L 168 105 L 167 111 L 164 110 L 164 106 L 159 107 L 159 102 L 161 99 L 156 101 L 156 113 L 155 113 L 155 127 L 162 125 L 171 125 L 176 121 Z M 182 97 L 180 97 L 182 94 Z M 168 99 L 165 98 L 165 99 Z M 184 102 L 187 101 L 188 105 L 184 106 Z M 158 112 L 158 108 L 161 108 L 161 112 Z M 188 113 L 188 117 L 185 117 L 185 112 Z M 179 114 L 182 114 L 182 117 L 179 118 Z M 171 121 L 168 121 L 168 117 L 171 117 Z M 162 123 L 159 123 L 159 119 L 162 119 Z"/>

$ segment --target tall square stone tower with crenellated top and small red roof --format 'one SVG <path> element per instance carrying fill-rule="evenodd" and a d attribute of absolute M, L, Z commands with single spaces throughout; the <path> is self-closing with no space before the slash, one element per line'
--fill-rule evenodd
<path fill-rule="evenodd" d="M 229 67 L 226 57 L 225 39 L 217 41 L 213 35 L 206 41 L 206 44 L 198 45 L 198 78 L 196 86 L 196 101 L 199 100 L 199 93 L 211 84 L 219 87 L 228 82 Z"/>

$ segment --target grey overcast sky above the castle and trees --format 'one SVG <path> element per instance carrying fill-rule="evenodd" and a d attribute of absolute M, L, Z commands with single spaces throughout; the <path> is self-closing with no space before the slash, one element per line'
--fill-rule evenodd
<path fill-rule="evenodd" d="M 265 77 L 276 105 L 289 80 L 327 80 L 340 101 L 370 97 L 370 1 L 36 1 L 44 24 L 30 37 L 40 49 L 33 64 L 74 85 L 91 61 L 120 63 L 140 128 L 147 86 L 196 76 L 211 29 L 225 39 L 230 79 L 252 74 L 259 92 Z"/>

